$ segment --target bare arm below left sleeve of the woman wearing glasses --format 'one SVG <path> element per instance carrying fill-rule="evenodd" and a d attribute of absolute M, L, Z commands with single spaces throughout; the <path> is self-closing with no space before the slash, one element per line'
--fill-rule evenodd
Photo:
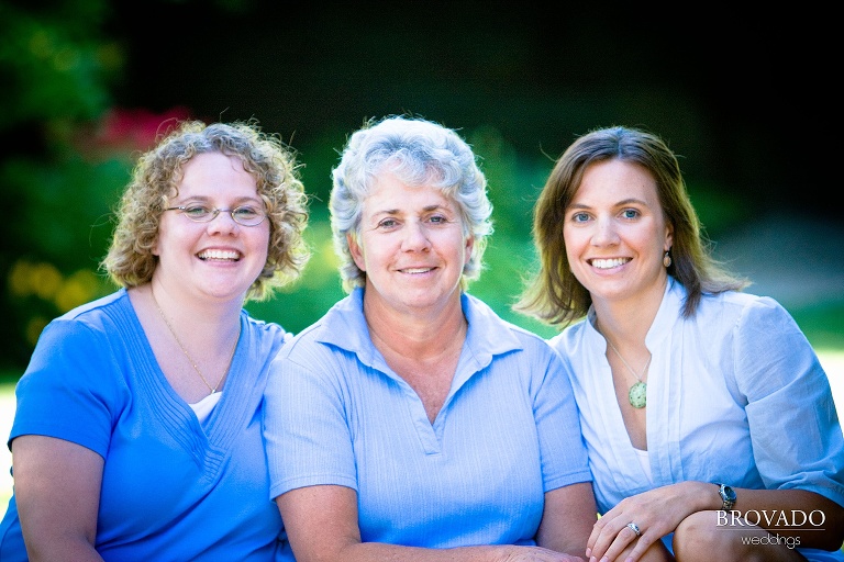
<path fill-rule="evenodd" d="M 102 561 L 93 548 L 103 459 L 53 437 L 12 441 L 14 496 L 30 560 Z"/>

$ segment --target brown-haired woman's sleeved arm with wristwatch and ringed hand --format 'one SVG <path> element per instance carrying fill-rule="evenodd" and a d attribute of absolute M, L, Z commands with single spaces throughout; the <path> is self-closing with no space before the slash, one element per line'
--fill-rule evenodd
<path fill-rule="evenodd" d="M 844 503 L 844 441 L 826 375 L 797 324 L 775 301 L 746 301 L 740 312 L 733 312 L 729 334 L 719 340 L 717 351 L 708 352 L 729 390 L 718 400 L 725 407 L 744 411 L 745 432 L 738 437 L 752 442 L 752 459 L 742 461 L 747 461 L 746 467 L 734 462 L 730 468 L 719 460 L 719 456 L 730 460 L 724 447 L 731 443 L 724 442 L 718 452 L 690 450 L 689 454 L 713 459 L 709 472 L 692 475 L 706 480 L 663 486 L 619 503 L 598 521 L 589 539 L 596 554 L 618 555 L 635 541 L 636 560 L 649 544 L 698 512 L 710 512 L 715 525 L 715 512 L 722 504 L 712 482 L 733 486 L 738 498 L 734 509 L 746 521 L 758 522 L 757 529 L 784 537 L 799 535 L 800 546 L 807 548 L 835 550 L 844 541 L 839 505 Z M 736 438 L 737 431 L 733 434 Z M 754 480 L 745 470 L 758 472 L 755 480 L 767 490 L 740 488 L 742 482 Z M 823 513 L 823 532 L 807 531 L 810 524 L 802 527 L 803 532 L 782 525 L 792 521 L 792 512 L 813 510 Z M 642 530 L 638 540 L 625 527 L 631 521 Z"/>

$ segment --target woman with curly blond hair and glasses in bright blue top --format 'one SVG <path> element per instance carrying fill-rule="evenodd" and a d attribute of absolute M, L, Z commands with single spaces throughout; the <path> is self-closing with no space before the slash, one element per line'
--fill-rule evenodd
<path fill-rule="evenodd" d="M 120 289 L 54 319 L 18 383 L 0 560 L 279 560 L 260 420 L 288 334 L 243 305 L 308 258 L 293 153 L 254 123 L 181 123 L 118 218 Z"/>

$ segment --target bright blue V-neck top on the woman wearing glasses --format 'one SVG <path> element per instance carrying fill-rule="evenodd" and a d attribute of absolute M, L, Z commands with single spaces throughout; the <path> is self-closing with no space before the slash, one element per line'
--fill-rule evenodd
<path fill-rule="evenodd" d="M 16 386 L 9 441 L 45 435 L 103 457 L 96 548 L 104 560 L 278 559 L 281 519 L 267 501 L 260 419 L 286 333 L 245 311 L 241 328 L 203 424 L 165 379 L 125 290 L 44 329 Z M 26 560 L 14 497 L 0 522 L 0 560 Z"/>

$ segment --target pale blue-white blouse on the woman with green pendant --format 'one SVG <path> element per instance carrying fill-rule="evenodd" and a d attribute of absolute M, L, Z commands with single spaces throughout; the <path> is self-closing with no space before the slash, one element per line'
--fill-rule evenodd
<path fill-rule="evenodd" d="M 571 376 L 599 510 L 689 480 L 810 490 L 844 505 L 844 436 L 826 374 L 795 321 L 773 299 L 740 292 L 704 295 L 684 318 L 686 294 L 669 277 L 645 338 L 653 481 L 624 427 L 593 312 L 551 340 Z M 801 552 L 844 560 L 841 551 Z"/>

